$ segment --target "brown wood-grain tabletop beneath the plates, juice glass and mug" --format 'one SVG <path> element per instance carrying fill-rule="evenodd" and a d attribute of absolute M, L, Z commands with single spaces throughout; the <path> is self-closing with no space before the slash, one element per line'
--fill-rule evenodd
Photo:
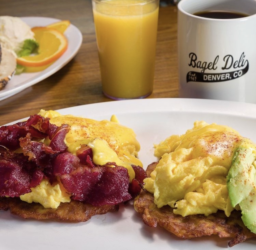
<path fill-rule="evenodd" d="M 45 80 L 0 101 L 0 125 L 38 113 L 111 101 L 101 90 L 91 0 L 1 0 L 0 15 L 69 19 L 83 34 L 74 59 Z M 178 97 L 177 7 L 160 7 L 154 91 L 147 98 Z"/>

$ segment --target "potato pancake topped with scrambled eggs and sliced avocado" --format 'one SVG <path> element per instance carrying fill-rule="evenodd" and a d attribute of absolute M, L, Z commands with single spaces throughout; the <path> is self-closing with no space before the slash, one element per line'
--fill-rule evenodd
<path fill-rule="evenodd" d="M 232 247 L 256 233 L 256 146 L 234 129 L 195 122 L 155 146 L 135 210 L 183 238 L 218 235 Z"/>

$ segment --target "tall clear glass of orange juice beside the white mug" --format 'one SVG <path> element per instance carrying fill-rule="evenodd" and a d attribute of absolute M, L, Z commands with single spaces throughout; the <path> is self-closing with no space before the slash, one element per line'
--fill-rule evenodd
<path fill-rule="evenodd" d="M 92 0 L 102 89 L 114 100 L 153 91 L 159 0 Z"/>

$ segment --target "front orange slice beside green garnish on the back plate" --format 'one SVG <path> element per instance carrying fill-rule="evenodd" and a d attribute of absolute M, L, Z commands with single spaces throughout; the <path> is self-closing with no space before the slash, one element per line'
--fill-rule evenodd
<path fill-rule="evenodd" d="M 34 27 L 31 29 L 39 43 L 36 55 L 17 58 L 17 64 L 27 67 L 41 67 L 56 61 L 67 49 L 66 37 L 56 29 L 49 27 Z"/>

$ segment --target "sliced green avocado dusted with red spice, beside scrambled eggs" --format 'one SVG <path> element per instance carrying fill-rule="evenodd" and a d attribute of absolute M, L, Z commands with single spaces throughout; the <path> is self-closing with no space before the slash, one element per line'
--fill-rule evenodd
<path fill-rule="evenodd" d="M 233 207 L 239 204 L 242 220 L 256 233 L 255 149 L 237 148 L 227 176 L 228 195 Z"/>

